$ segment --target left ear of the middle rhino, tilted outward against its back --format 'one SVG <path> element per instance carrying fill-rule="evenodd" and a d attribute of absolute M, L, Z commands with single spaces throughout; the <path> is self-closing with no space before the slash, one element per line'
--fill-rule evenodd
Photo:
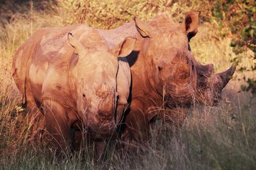
<path fill-rule="evenodd" d="M 136 17 L 134 17 L 134 22 L 136 25 L 136 29 L 138 30 L 138 32 L 140 32 L 141 36 L 143 36 L 144 38 L 146 38 L 146 37 L 151 38 L 151 36 L 155 30 L 153 27 L 144 23 L 143 21 L 139 20 Z"/>

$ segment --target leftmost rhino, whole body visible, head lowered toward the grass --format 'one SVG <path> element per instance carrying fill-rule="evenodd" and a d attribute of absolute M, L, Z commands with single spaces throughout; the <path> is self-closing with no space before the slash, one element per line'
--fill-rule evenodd
<path fill-rule="evenodd" d="M 122 115 L 115 112 L 116 98 L 121 108 L 127 104 L 131 78 L 129 64 L 117 57 L 128 55 L 135 41 L 125 37 L 114 46 L 95 29 L 72 25 L 40 29 L 17 50 L 15 83 L 31 117 L 44 108 L 46 129 L 59 151 L 72 145 L 70 128 L 85 128 L 93 139 L 115 134 Z"/>

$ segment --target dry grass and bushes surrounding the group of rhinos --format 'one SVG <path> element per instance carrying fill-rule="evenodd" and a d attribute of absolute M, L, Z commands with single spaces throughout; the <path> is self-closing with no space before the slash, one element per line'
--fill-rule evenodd
<path fill-rule="evenodd" d="M 255 1 L 0 1 L 0 168 L 1 169 L 255 169 Z M 15 49 L 41 27 L 83 23 L 111 29 L 150 20 L 166 12 L 175 22 L 200 10 L 198 34 L 191 40 L 196 59 L 213 63 L 216 72 L 238 64 L 239 71 L 216 107 L 196 104 L 182 127 L 158 123 L 141 154 L 109 145 L 102 162 L 84 148 L 71 159 L 56 160 L 44 141 L 29 143 L 31 123 L 20 107 L 12 81 Z M 241 91 L 242 87 L 242 92 Z M 254 97 L 254 98 L 253 98 Z"/>

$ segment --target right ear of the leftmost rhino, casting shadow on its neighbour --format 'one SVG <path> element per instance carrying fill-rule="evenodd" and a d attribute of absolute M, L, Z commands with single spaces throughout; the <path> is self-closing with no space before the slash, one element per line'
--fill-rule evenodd
<path fill-rule="evenodd" d="M 125 57 L 129 55 L 129 53 L 132 52 L 132 49 L 134 48 L 136 42 L 136 38 L 127 37 L 119 43 L 116 48 L 113 50 L 114 55 L 116 57 Z"/>

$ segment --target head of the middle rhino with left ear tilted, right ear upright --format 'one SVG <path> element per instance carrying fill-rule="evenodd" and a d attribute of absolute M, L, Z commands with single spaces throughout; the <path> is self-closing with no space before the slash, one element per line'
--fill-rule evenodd
<path fill-rule="evenodd" d="M 189 58 L 188 41 L 195 36 L 198 14 L 187 15 L 182 27 L 161 29 L 135 18 L 138 32 L 145 38 L 143 55 L 148 81 L 170 107 L 190 106 L 196 91 L 196 70 Z"/>

